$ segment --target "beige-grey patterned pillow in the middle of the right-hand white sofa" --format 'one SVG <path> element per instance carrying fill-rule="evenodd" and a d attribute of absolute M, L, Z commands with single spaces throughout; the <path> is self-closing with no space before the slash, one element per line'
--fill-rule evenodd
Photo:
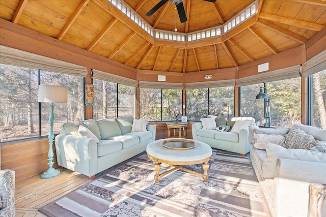
<path fill-rule="evenodd" d="M 286 136 L 283 147 L 285 148 L 303 148 L 309 142 L 314 141 L 315 138 L 308 135 L 305 131 L 298 128 L 291 129 Z"/>

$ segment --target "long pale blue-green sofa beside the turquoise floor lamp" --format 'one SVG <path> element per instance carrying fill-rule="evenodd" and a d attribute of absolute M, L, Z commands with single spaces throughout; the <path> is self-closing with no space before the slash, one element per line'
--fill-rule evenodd
<path fill-rule="evenodd" d="M 156 128 L 145 124 L 145 131 L 131 132 L 133 120 L 132 116 L 125 116 L 64 123 L 55 138 L 58 165 L 91 179 L 145 151 L 147 144 L 155 141 Z M 93 135 L 81 136 L 79 126 Z"/>

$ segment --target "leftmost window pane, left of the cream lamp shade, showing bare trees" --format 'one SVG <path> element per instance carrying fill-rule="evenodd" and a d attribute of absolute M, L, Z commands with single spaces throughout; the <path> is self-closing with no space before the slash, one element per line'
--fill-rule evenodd
<path fill-rule="evenodd" d="M 1 142 L 39 135 L 38 70 L 0 64 L 0 101 Z"/>

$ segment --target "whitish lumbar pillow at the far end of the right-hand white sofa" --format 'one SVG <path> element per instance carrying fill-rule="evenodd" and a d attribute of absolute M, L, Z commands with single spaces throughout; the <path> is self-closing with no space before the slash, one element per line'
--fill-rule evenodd
<path fill-rule="evenodd" d="M 254 133 L 254 146 L 258 149 L 265 149 L 268 142 L 283 146 L 285 137 L 277 134 L 260 134 Z"/>

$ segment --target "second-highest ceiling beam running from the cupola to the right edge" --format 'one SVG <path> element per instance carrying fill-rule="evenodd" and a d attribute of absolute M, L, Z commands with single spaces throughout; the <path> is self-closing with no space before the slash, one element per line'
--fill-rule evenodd
<path fill-rule="evenodd" d="M 273 21 L 273 22 L 283 23 L 283 24 L 287 24 L 287 25 L 294 25 L 294 26 L 301 27 L 301 28 L 307 28 L 307 29 L 314 30 L 317 32 L 319 32 L 323 27 L 325 27 L 324 25 L 317 24 L 317 23 L 292 19 L 292 18 L 288 18 L 288 17 L 282 17 L 282 16 L 278 16 L 278 15 L 273 15 L 273 14 L 267 14 L 267 13 L 260 13 L 259 18 Z"/>

